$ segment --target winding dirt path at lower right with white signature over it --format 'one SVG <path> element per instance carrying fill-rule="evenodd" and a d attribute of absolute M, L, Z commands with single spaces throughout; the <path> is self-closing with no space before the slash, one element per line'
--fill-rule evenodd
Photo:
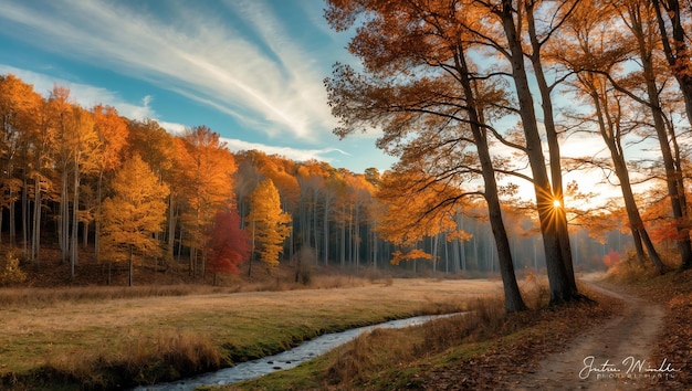
<path fill-rule="evenodd" d="M 594 290 L 622 299 L 622 315 L 593 327 L 565 351 L 543 359 L 533 373 L 514 382 L 516 390 L 650 389 L 651 377 L 674 376 L 665 362 L 650 360 L 662 327 L 662 306 L 589 283 Z"/>

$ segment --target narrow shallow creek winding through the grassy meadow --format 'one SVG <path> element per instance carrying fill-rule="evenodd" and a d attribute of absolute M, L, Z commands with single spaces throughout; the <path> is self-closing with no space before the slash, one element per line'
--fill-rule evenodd
<path fill-rule="evenodd" d="M 441 317 L 450 317 L 461 315 L 463 313 L 448 315 L 430 315 L 416 316 L 412 318 L 390 320 L 377 325 L 353 328 L 342 332 L 325 334 L 300 346 L 283 351 L 274 356 L 263 357 L 261 359 L 240 362 L 231 368 L 224 368 L 216 372 L 209 372 L 197 376 L 195 378 L 181 379 L 170 383 L 159 383 L 154 385 L 143 385 L 135 390 L 154 391 L 154 390 L 195 390 L 202 385 L 224 385 L 232 384 L 243 380 L 255 379 L 261 376 L 275 371 L 291 369 L 300 363 L 312 360 L 315 357 L 326 353 L 327 351 L 356 339 L 359 335 L 375 330 L 377 328 L 405 328 L 410 326 L 422 325 L 427 321 Z"/>

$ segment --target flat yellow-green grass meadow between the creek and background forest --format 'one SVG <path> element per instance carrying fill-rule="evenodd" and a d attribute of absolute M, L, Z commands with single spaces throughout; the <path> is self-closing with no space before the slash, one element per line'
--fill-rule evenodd
<path fill-rule="evenodd" d="M 463 310 L 471 299 L 501 292 L 500 282 L 485 279 L 352 279 L 347 285 L 242 293 L 0 290 L 0 376 L 4 387 L 18 388 L 172 380 L 271 355 L 326 331 Z"/>

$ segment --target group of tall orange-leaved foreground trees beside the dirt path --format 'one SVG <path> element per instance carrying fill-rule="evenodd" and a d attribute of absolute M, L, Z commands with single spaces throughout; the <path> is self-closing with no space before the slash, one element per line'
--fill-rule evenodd
<path fill-rule="evenodd" d="M 355 28 L 348 50 L 360 61 L 357 67 L 335 64 L 325 80 L 340 121 L 334 133 L 382 131 L 378 146 L 399 157 L 392 188 L 406 189 L 390 198 L 401 205 L 421 198 L 416 224 L 447 226 L 460 205 L 482 200 L 508 311 L 526 306 L 501 204 L 513 189 L 499 179 L 533 186 L 551 304 L 583 299 L 565 204 L 566 193 L 577 191 L 563 183 L 565 170 L 590 166 L 612 173 L 641 262 L 663 270 L 649 231 L 664 220 L 674 261 L 692 267 L 682 142 L 692 119 L 689 7 L 678 0 L 327 4 L 333 29 Z M 565 159 L 560 148 L 581 133 L 600 136 L 609 158 L 585 151 Z M 656 140 L 647 149 L 656 157 L 627 156 L 628 147 L 647 140 Z M 638 181 L 658 182 L 652 188 L 659 192 L 638 199 L 632 172 Z M 641 210 L 661 199 L 668 208 L 658 202 L 661 213 L 647 224 Z"/>

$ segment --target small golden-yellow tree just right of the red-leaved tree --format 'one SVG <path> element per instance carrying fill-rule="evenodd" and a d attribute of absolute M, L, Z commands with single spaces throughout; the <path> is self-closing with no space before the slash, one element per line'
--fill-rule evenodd
<path fill-rule="evenodd" d="M 247 224 L 260 258 L 270 267 L 279 265 L 283 242 L 291 234 L 291 215 L 281 209 L 279 191 L 271 179 L 260 182 L 251 194 Z"/>

